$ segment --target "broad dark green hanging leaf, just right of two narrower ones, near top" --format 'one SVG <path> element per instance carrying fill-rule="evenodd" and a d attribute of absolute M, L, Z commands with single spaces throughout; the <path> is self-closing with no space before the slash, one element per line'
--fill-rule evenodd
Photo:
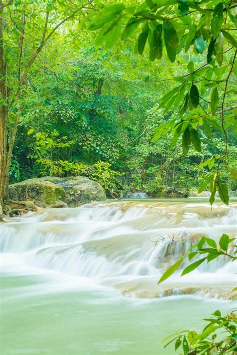
<path fill-rule="evenodd" d="M 175 61 L 177 47 L 178 47 L 178 35 L 170 20 L 164 21 L 164 43 L 169 60 L 173 63 Z"/>

